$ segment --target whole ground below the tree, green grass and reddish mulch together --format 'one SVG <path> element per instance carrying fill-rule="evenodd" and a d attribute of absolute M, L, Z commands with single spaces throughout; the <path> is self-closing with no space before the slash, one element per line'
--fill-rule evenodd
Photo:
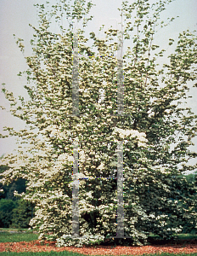
<path fill-rule="evenodd" d="M 14 233 L 18 232 L 18 233 Z M 70 255 L 79 253 L 85 255 L 187 255 L 197 256 L 197 235 L 182 234 L 172 241 L 163 241 L 156 236 L 149 238 L 149 245 L 133 247 L 109 243 L 99 246 L 83 247 L 55 247 L 54 241 L 42 243 L 37 240 L 38 234 L 30 230 L 3 230 L 0 229 L 1 255 Z M 149 254 L 150 253 L 150 254 Z M 161 254 L 158 254 L 161 253 Z"/>

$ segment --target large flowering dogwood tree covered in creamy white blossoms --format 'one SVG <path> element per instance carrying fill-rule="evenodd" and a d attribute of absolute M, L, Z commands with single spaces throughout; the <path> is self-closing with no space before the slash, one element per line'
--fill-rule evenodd
<path fill-rule="evenodd" d="M 194 201 L 181 173 L 196 167 L 186 166 L 196 156 L 189 151 L 197 131 L 196 116 L 180 102 L 187 97 L 188 82 L 196 79 L 196 38 L 189 31 L 180 33 L 176 50 L 169 55 L 170 64 L 163 67 L 158 63 L 165 50 L 154 44 L 157 30 L 165 26 L 160 13 L 171 2 L 122 2 L 124 40 L 131 40 L 132 47 L 123 56 L 121 114 L 116 113 L 120 68 L 115 38 L 119 33 L 110 28 L 104 39 L 94 32 L 90 38 L 84 36 L 87 21 L 92 19 L 84 18 L 91 2 L 80 0 L 71 6 L 60 0 L 51 11 L 37 4 L 40 21 L 38 27 L 31 26 L 35 31 L 33 54 L 25 57 L 29 66 L 24 72 L 25 89 L 30 99 L 20 97 L 17 102 L 3 85 L 11 113 L 26 124 L 22 131 L 5 129 L 19 137 L 21 146 L 17 154 L 3 158 L 3 165 L 9 167 L 3 183 L 19 177 L 28 181 L 26 193 L 20 196 L 37 206 L 31 226 L 39 231 L 40 239 L 49 237 L 59 246 L 82 246 L 115 236 L 118 142 L 124 142 L 124 234 L 132 244 L 145 243 L 150 232 L 163 238 L 181 232 L 177 217 L 192 219 L 195 228 Z M 74 23 L 62 26 L 63 17 L 76 19 L 83 27 L 78 29 L 77 41 L 81 55 L 77 114 L 73 114 Z M 52 22 L 59 24 L 59 33 L 51 29 Z M 90 40 L 92 47 L 87 44 Z M 24 52 L 22 41 L 18 38 L 17 44 Z M 71 235 L 73 143 L 79 153 L 80 236 L 76 238 Z"/>

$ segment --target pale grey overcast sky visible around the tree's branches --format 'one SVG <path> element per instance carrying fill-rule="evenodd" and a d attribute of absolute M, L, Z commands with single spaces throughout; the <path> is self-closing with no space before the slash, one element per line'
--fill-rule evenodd
<path fill-rule="evenodd" d="M 49 0 L 50 1 L 50 0 Z M 53 0 L 53 2 L 55 2 Z M 132 0 L 129 2 L 132 3 Z M 152 2 L 156 2 L 152 0 Z M 31 53 L 30 40 L 32 38 L 32 29 L 29 23 L 37 26 L 37 9 L 33 3 L 45 3 L 41 0 L 1 0 L 0 1 L 0 84 L 5 83 L 6 88 L 14 92 L 14 96 L 27 96 L 23 86 L 25 79 L 17 76 L 17 73 L 25 71 L 24 55 L 15 44 L 13 34 L 16 38 L 25 40 L 25 55 Z M 105 24 L 106 28 L 116 26 L 117 22 L 121 21 L 117 8 L 121 7 L 121 1 L 115 0 L 93 0 L 96 4 L 93 7 L 91 14 L 94 15 L 89 29 L 98 31 L 98 27 Z M 191 31 L 197 28 L 197 1 L 196 0 L 177 0 L 171 3 L 165 12 L 163 18 L 167 16 L 179 18 L 170 26 L 158 32 L 155 38 L 155 44 L 166 48 L 168 38 L 177 38 L 178 33 L 189 29 Z M 119 27 L 118 27 L 119 28 Z M 55 29 L 55 28 L 54 28 Z M 102 36 L 102 35 L 101 35 Z M 167 49 L 167 54 L 170 54 L 170 49 Z M 191 91 L 193 99 L 189 100 L 188 105 L 197 114 L 197 89 Z M 0 105 L 8 108 L 8 101 L 4 99 L 3 93 L 0 93 Z M 0 133 L 3 133 L 3 126 L 20 127 L 22 121 L 11 117 L 7 111 L 0 110 Z M 194 140 L 195 146 L 192 147 L 197 151 L 197 139 Z M 5 153 L 10 153 L 15 148 L 13 138 L 0 139 L 0 156 Z"/>

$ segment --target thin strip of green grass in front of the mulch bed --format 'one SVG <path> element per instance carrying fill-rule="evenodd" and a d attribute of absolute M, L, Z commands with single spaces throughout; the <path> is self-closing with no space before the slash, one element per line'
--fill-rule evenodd
<path fill-rule="evenodd" d="M 70 253 L 70 252 L 42 252 L 42 253 L 0 253 L 1 256 L 8 256 L 8 255 L 11 255 L 11 256 L 45 256 L 45 255 L 48 255 L 48 256 L 82 256 L 84 254 L 81 254 L 81 253 Z M 98 256 L 98 255 L 95 255 L 95 256 Z M 129 256 L 129 255 L 127 255 Z M 130 254 L 130 256 L 132 256 Z M 139 255 L 138 255 L 139 256 Z M 143 254 L 143 256 L 197 256 L 197 253 L 154 253 L 154 254 Z"/>

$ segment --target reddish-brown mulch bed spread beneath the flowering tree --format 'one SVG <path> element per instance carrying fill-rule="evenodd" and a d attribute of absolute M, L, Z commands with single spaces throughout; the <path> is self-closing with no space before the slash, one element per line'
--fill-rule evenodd
<path fill-rule="evenodd" d="M 41 245 L 40 241 L 20 241 L 20 242 L 1 242 L 0 252 L 62 252 L 72 251 L 86 255 L 122 255 L 143 253 L 197 253 L 197 240 L 177 241 L 176 243 L 155 244 L 143 247 L 126 246 L 83 246 L 83 247 L 55 247 L 55 241 L 45 241 Z"/>

